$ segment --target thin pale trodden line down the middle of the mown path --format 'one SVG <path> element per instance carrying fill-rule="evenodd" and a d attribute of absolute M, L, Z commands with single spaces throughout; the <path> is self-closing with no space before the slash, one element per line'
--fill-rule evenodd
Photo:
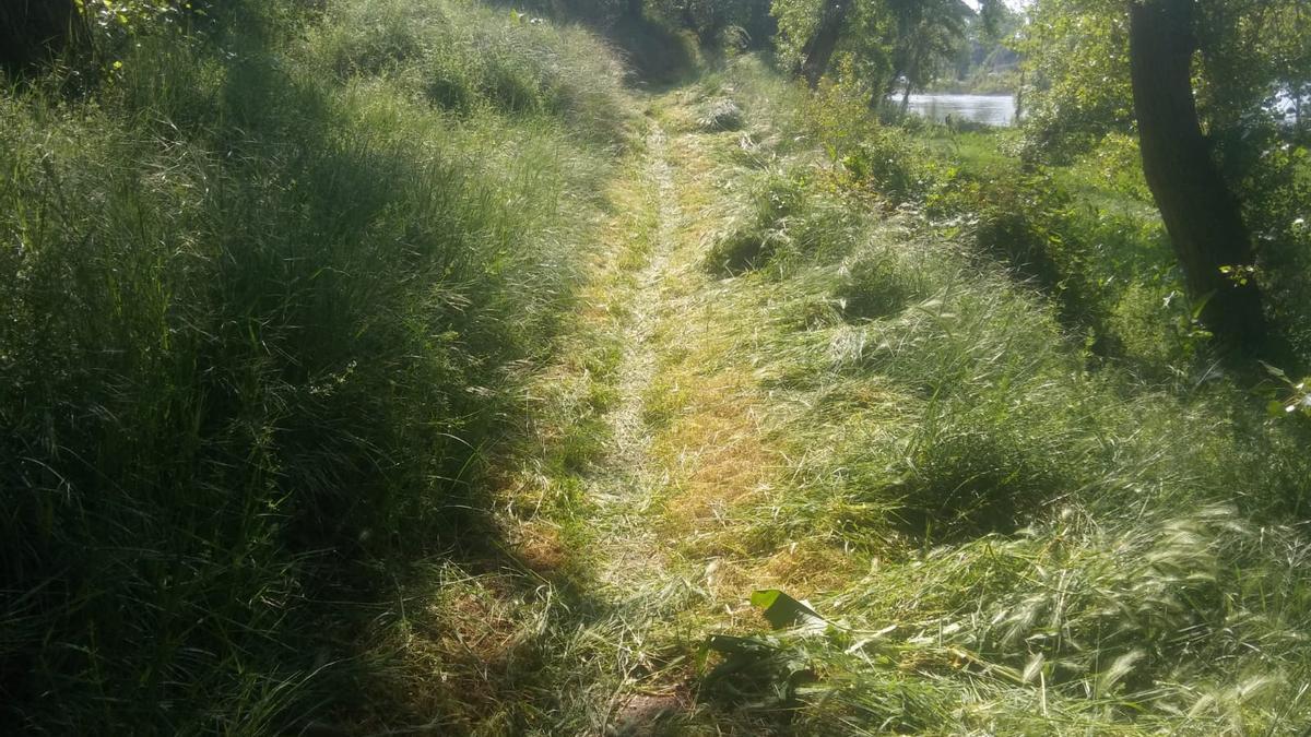
<path fill-rule="evenodd" d="M 667 542 L 650 523 L 669 473 L 652 455 L 653 438 L 646 422 L 646 393 L 658 375 L 654 337 L 667 313 L 666 281 L 671 268 L 674 231 L 679 203 L 669 160 L 669 139 L 658 121 L 650 121 L 645 167 L 637 188 L 645 193 L 645 237 L 616 244 L 612 271 L 617 283 L 603 285 L 615 302 L 607 309 L 603 334 L 619 340 L 615 366 L 615 401 L 606 422 L 608 443 L 593 459 L 587 473 L 587 496 L 597 530 L 591 546 L 576 551 L 597 564 L 591 573 L 602 595 L 614 602 L 616 644 L 614 694 L 602 709 L 600 733 L 633 733 L 649 728 L 670 712 L 686 708 L 679 683 L 656 677 L 661 665 L 646 649 L 658 644 L 653 637 L 652 614 L 665 608 L 661 602 L 686 599 L 686 578 L 675 572 Z M 638 211 L 641 212 L 641 211 Z M 629 212 L 627 216 L 632 216 Z M 625 216 L 625 215 L 620 215 Z"/>

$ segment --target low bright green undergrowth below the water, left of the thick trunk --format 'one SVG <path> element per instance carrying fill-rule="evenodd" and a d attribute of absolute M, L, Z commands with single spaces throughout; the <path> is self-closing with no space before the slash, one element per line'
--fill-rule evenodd
<path fill-rule="evenodd" d="M 1152 354 L 1169 366 L 1200 358 L 1209 333 L 1180 296 L 1133 139 L 1106 135 L 1068 167 L 1021 168 L 1007 134 L 880 125 L 842 85 L 822 84 L 805 109 L 842 172 L 836 182 L 923 207 L 947 235 L 1053 299 L 1097 354 Z M 926 146 L 929 135 L 939 138 Z M 1173 376 L 1147 363 L 1156 378 Z"/>

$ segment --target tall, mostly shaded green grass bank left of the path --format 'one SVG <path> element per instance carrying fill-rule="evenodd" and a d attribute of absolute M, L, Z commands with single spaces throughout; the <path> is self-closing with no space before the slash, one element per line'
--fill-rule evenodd
<path fill-rule="evenodd" d="M 240 4 L 0 94 L 0 725 L 271 733 L 455 544 L 628 119 L 587 34 Z M 452 104 L 459 100 L 459 104 Z"/>

